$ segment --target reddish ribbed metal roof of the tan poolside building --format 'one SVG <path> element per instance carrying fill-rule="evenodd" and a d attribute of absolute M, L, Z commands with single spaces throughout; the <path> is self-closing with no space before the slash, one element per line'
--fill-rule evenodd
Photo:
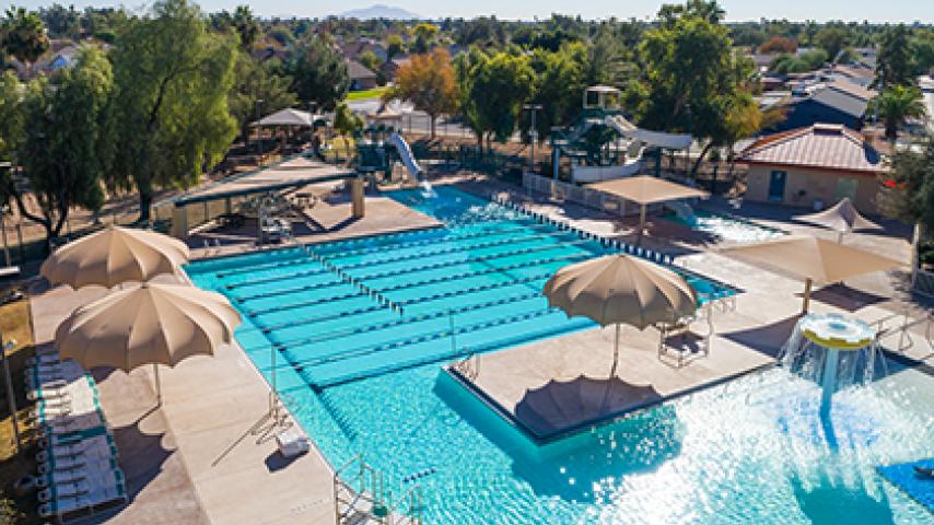
<path fill-rule="evenodd" d="M 862 135 L 840 125 L 815 124 L 763 137 L 749 145 L 740 159 L 750 164 L 844 170 L 884 171 L 879 153 Z"/>

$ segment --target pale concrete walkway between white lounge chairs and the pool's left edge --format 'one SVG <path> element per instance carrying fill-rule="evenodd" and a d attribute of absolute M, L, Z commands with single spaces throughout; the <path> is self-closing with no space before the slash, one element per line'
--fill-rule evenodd
<path fill-rule="evenodd" d="M 97 287 L 34 292 L 39 343 L 51 340 L 74 307 L 105 293 Z M 266 418 L 269 389 L 238 346 L 189 358 L 175 369 L 163 366 L 160 408 L 152 368 L 129 374 L 95 370 L 95 375 L 131 494 L 126 508 L 96 520 L 135 525 L 334 521 L 330 467 L 315 450 L 282 460 Z"/>

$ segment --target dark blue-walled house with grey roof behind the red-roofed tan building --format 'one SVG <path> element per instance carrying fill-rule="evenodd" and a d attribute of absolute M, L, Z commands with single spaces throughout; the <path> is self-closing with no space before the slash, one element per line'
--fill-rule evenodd
<path fill-rule="evenodd" d="M 805 128 L 818 122 L 839 124 L 851 129 L 862 129 L 863 116 L 875 92 L 852 82 L 837 80 L 813 84 L 798 84 L 785 103 L 785 120 L 772 131 Z"/>

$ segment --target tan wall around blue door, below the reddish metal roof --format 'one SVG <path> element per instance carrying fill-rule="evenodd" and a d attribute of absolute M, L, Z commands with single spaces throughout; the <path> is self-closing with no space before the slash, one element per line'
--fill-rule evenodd
<path fill-rule="evenodd" d="M 857 182 L 853 205 L 862 213 L 877 214 L 876 195 L 878 179 L 874 175 L 806 168 L 790 168 L 785 166 L 750 165 L 747 175 L 746 199 L 758 202 L 769 202 L 769 182 L 773 170 L 787 172 L 785 196 L 781 203 L 812 208 L 815 199 L 821 199 L 824 207 L 829 208 L 839 200 L 837 196 L 838 180 L 852 179 Z M 804 196 L 798 192 L 804 190 Z"/>

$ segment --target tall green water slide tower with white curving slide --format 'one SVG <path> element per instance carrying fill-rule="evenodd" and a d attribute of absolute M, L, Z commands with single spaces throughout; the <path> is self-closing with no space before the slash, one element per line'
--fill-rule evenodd
<path fill-rule="evenodd" d="M 649 131 L 623 115 L 620 91 L 606 85 L 584 90 L 583 110 L 571 126 L 551 130 L 552 176 L 559 178 L 561 159 L 571 161 L 571 179 L 595 183 L 635 175 L 654 156 L 661 170 L 663 150 L 690 148 L 690 135 Z"/>

